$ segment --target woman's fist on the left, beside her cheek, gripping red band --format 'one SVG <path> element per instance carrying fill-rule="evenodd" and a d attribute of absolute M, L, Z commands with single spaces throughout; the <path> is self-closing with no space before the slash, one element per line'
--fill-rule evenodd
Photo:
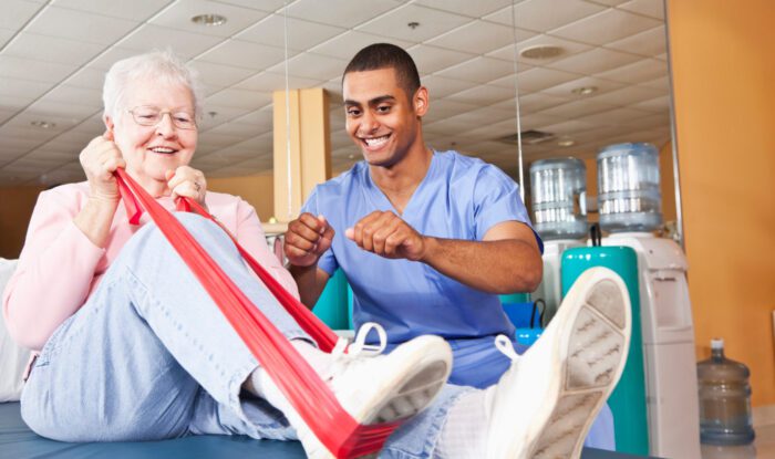
<path fill-rule="evenodd" d="M 126 167 L 126 163 L 113 143 L 113 133 L 106 131 L 100 137 L 94 137 L 81 152 L 79 159 L 89 180 L 90 198 L 117 202 L 121 195 L 113 173 L 120 167 Z"/>

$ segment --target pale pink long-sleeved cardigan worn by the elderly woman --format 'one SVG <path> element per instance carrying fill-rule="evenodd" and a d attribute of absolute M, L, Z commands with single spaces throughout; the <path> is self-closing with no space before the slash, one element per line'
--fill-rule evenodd
<path fill-rule="evenodd" d="M 89 299 L 100 279 L 141 226 L 127 221 L 121 204 L 105 249 L 94 246 L 73 223 L 85 205 L 89 185 L 64 185 L 38 198 L 17 271 L 2 295 L 2 312 L 11 337 L 21 346 L 40 351 L 56 327 Z M 269 251 L 256 210 L 239 197 L 207 192 L 207 207 L 240 244 L 297 298 L 290 273 Z M 174 209 L 172 198 L 158 199 Z"/>

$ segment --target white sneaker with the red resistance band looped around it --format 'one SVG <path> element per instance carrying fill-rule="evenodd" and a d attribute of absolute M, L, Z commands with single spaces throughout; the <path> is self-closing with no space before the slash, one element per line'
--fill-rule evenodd
<path fill-rule="evenodd" d="M 379 346 L 364 344 L 370 330 L 378 331 Z M 438 336 L 420 336 L 382 355 L 384 330 L 375 323 L 368 323 L 361 327 L 347 354 L 345 347 L 347 341 L 340 340 L 331 354 L 333 364 L 321 377 L 342 408 L 361 425 L 390 423 L 416 415 L 431 404 L 452 371 L 452 350 Z M 279 396 L 286 401 L 278 408 L 296 428 L 307 456 L 333 458 L 279 388 L 268 377 L 262 383 L 265 390 L 273 393 L 267 394 L 267 399 L 273 404 Z"/>

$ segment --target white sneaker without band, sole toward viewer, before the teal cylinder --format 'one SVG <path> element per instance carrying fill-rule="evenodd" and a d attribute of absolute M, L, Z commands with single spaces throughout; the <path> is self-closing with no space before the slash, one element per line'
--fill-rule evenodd
<path fill-rule="evenodd" d="M 487 458 L 578 458 L 619 380 L 630 345 L 630 296 L 606 268 L 585 271 L 542 336 L 488 388 Z"/>

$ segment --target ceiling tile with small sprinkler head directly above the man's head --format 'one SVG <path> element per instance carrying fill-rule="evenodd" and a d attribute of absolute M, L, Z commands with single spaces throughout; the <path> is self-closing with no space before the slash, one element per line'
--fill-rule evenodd
<path fill-rule="evenodd" d="M 355 29 L 361 32 L 420 43 L 469 21 L 471 19 L 464 15 L 432 10 L 416 4 L 404 4 Z M 407 25 L 410 22 L 420 22 L 420 25 L 411 29 Z"/>

